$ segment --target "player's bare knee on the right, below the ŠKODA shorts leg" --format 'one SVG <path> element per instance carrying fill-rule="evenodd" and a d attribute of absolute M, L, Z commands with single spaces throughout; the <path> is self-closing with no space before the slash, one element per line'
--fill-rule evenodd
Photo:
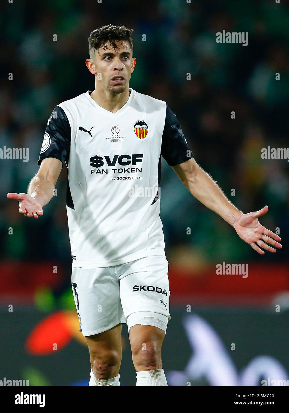
<path fill-rule="evenodd" d="M 160 368 L 160 351 L 156 349 L 153 342 L 132 346 L 132 357 L 135 365 L 143 366 L 146 370 Z"/>

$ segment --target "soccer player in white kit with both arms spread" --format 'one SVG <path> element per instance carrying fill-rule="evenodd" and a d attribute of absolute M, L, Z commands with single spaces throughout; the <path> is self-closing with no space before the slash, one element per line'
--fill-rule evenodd
<path fill-rule="evenodd" d="M 120 386 L 121 324 L 127 323 L 136 386 L 167 386 L 161 347 L 169 315 L 168 262 L 160 220 L 161 155 L 189 192 L 259 254 L 280 237 L 242 214 L 197 165 L 166 102 L 129 88 L 132 30 L 89 36 L 95 88 L 58 104 L 48 119 L 28 194 L 7 194 L 27 217 L 43 215 L 64 163 L 72 290 L 89 348 L 89 386 Z M 177 216 L 176 216 L 177 219 Z M 271 246 L 272 245 L 272 246 Z"/>

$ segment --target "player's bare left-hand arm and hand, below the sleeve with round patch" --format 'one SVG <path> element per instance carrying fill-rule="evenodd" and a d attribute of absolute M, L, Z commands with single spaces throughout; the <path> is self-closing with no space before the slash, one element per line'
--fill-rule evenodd
<path fill-rule="evenodd" d="M 43 207 L 53 197 L 53 191 L 62 169 L 62 162 L 46 158 L 41 162 L 38 173 L 31 179 L 27 194 L 9 192 L 7 198 L 19 201 L 19 212 L 29 218 L 43 215 Z"/>

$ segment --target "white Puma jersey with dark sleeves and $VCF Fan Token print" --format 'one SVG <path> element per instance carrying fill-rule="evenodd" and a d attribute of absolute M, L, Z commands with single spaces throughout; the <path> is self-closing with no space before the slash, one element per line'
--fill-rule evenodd
<path fill-rule="evenodd" d="M 91 91 L 54 108 L 38 164 L 68 167 L 66 209 L 72 266 L 108 267 L 164 254 L 161 155 L 170 166 L 193 157 L 166 102 L 129 88 L 116 113 Z"/>

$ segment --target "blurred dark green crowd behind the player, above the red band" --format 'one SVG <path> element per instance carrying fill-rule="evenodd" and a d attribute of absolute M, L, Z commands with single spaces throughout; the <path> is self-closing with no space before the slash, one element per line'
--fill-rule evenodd
<path fill-rule="evenodd" d="M 167 101 L 202 168 L 242 211 L 268 204 L 262 223 L 274 231 L 280 228 L 283 242 L 288 240 L 288 163 L 261 159 L 261 148 L 286 147 L 288 142 L 288 2 L 159 0 L 137 7 L 130 0 L 30 0 L 3 7 L 0 146 L 29 148 L 29 161 L 1 159 L 2 259 L 70 261 L 66 171 L 57 184 L 57 197 L 37 222 L 23 219 L 6 193 L 26 192 L 38 170 L 42 137 L 54 106 L 94 88 L 85 66 L 87 37 L 109 23 L 134 29 L 137 65 L 131 87 Z M 216 32 L 222 30 L 247 31 L 248 46 L 216 43 Z M 9 73 L 13 80 L 8 80 Z M 236 119 L 231 119 L 232 111 Z M 165 161 L 161 187 L 168 256 L 181 246 L 182 255 L 186 251 L 202 262 L 220 256 L 258 259 L 232 228 L 182 188 Z M 10 226 L 13 237 L 7 233 Z M 278 259 L 286 256 L 284 249 L 278 252 Z M 270 259 L 270 254 L 263 257 Z"/>

